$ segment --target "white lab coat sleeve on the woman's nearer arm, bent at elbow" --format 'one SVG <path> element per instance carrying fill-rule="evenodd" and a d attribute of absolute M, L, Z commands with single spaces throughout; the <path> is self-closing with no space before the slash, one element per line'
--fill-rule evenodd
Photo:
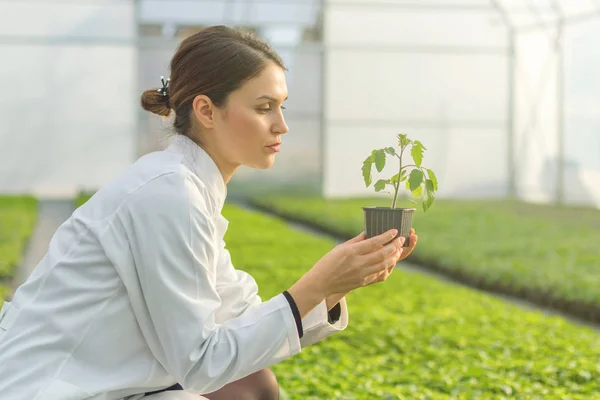
<path fill-rule="evenodd" d="M 132 306 L 148 345 L 187 391 L 213 392 L 301 351 L 283 294 L 222 324 L 215 234 L 201 184 L 163 175 L 130 196 L 120 217 L 141 295 Z M 128 282 L 129 288 L 135 284 Z M 138 298 L 141 297 L 141 298 Z"/>

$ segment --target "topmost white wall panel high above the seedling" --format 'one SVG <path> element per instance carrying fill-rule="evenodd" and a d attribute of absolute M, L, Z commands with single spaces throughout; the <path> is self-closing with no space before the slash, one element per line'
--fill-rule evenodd
<path fill-rule="evenodd" d="M 367 4 L 367 3 L 365 3 Z M 351 46 L 506 46 L 506 27 L 490 8 L 448 11 L 334 6 L 325 18 L 325 43 Z"/>

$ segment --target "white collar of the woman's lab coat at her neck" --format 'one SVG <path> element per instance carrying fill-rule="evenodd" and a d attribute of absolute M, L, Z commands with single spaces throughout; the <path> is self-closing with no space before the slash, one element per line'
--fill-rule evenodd
<path fill-rule="evenodd" d="M 204 182 L 218 211 L 221 212 L 227 197 L 227 185 L 214 160 L 193 140 L 179 134 L 175 136 L 169 150 L 183 154 L 184 164 Z"/>

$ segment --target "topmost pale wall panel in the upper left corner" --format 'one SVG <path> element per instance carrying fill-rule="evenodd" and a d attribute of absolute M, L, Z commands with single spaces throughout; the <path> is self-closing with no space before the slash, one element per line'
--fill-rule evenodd
<path fill-rule="evenodd" d="M 0 35 L 125 38 L 135 35 L 133 2 L 0 2 Z"/>

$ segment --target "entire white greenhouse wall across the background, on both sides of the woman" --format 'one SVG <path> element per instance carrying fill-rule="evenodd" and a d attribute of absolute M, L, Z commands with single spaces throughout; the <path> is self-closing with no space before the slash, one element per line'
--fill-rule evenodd
<path fill-rule="evenodd" d="M 533 27 L 517 35 L 512 97 L 508 29 L 484 0 L 0 1 L 0 194 L 96 189 L 166 145 L 167 125 L 141 109 L 141 92 L 168 75 L 178 27 L 229 24 L 256 28 L 289 67 L 282 153 L 237 180 L 373 195 L 362 161 L 407 133 L 427 147 L 439 197 L 505 197 L 512 152 L 517 196 L 554 201 L 562 148 L 565 201 L 600 206 L 600 15 L 564 30 L 560 143 L 552 10 L 538 29 L 521 2 L 496 3 Z M 589 11 L 560 3 L 569 18 Z M 320 21 L 322 43 L 307 35 Z"/>

